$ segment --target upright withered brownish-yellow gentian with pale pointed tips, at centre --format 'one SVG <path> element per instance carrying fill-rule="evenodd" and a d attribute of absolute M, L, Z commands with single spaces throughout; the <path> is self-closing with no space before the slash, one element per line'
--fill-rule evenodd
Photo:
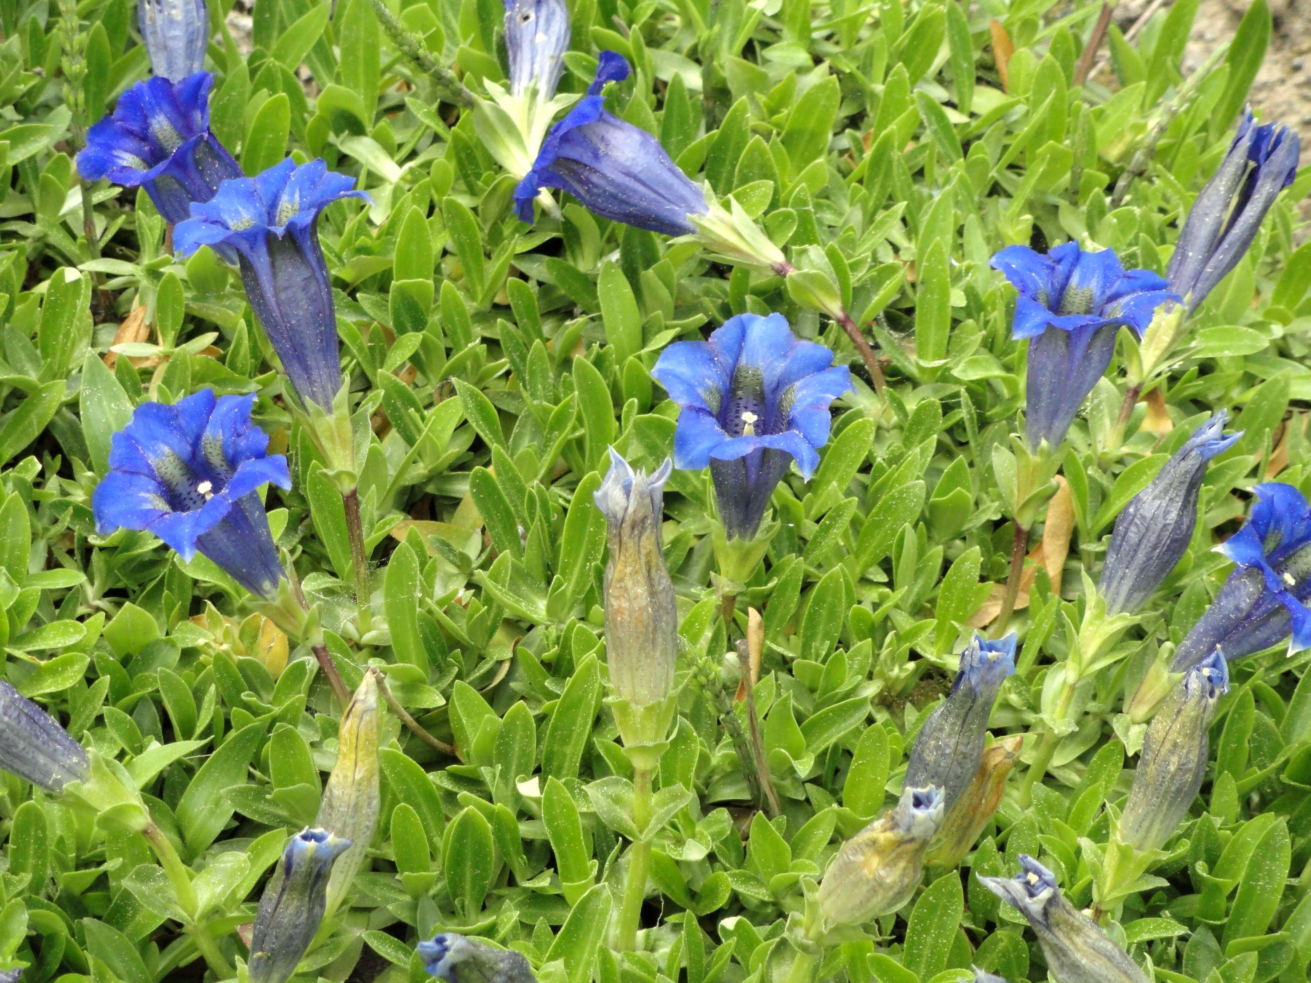
<path fill-rule="evenodd" d="M 606 564 L 610 683 L 615 697 L 635 709 L 657 704 L 674 689 L 678 607 L 661 552 L 661 516 L 670 468 L 665 461 L 654 474 L 635 472 L 611 448 L 610 471 L 595 494 L 610 543 Z"/>

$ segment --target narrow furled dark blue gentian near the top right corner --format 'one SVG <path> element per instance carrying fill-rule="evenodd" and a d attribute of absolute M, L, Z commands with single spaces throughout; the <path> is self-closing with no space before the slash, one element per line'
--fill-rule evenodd
<path fill-rule="evenodd" d="M 1298 173 L 1301 142 L 1278 123 L 1255 126 L 1243 114 L 1228 153 L 1188 212 L 1165 279 L 1189 313 L 1238 266 L 1265 212 Z"/>

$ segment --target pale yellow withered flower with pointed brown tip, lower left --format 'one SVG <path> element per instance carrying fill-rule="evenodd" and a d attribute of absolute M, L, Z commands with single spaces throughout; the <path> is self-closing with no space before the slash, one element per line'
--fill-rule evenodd
<path fill-rule="evenodd" d="M 328 882 L 328 914 L 337 910 L 355 874 L 378 826 L 380 792 L 378 784 L 378 682 L 374 671 L 364 674 L 355 696 L 342 714 L 337 730 L 337 764 L 328 776 L 316 822 L 353 844 L 332 869 Z"/>

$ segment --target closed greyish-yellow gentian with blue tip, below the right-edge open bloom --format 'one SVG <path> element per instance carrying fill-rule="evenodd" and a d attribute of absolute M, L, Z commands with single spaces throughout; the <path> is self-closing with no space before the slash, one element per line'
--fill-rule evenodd
<path fill-rule="evenodd" d="M 1202 788 L 1210 755 L 1210 727 L 1221 696 L 1228 692 L 1228 666 L 1217 649 L 1193 666 L 1169 692 L 1143 741 L 1129 801 L 1120 817 L 1120 841 L 1160 849 Z"/>

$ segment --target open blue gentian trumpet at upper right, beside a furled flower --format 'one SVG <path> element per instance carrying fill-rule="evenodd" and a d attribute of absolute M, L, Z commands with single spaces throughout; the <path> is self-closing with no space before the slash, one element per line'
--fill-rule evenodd
<path fill-rule="evenodd" d="M 1086 253 L 1076 242 L 1046 256 L 1028 246 L 1007 246 L 992 257 L 1020 296 L 1012 338 L 1029 342 L 1024 434 L 1037 451 L 1057 447 L 1092 387 L 1106 371 L 1116 334 L 1129 325 L 1141 336 L 1152 312 L 1179 300 L 1150 270 L 1129 270 L 1110 249 Z"/>

